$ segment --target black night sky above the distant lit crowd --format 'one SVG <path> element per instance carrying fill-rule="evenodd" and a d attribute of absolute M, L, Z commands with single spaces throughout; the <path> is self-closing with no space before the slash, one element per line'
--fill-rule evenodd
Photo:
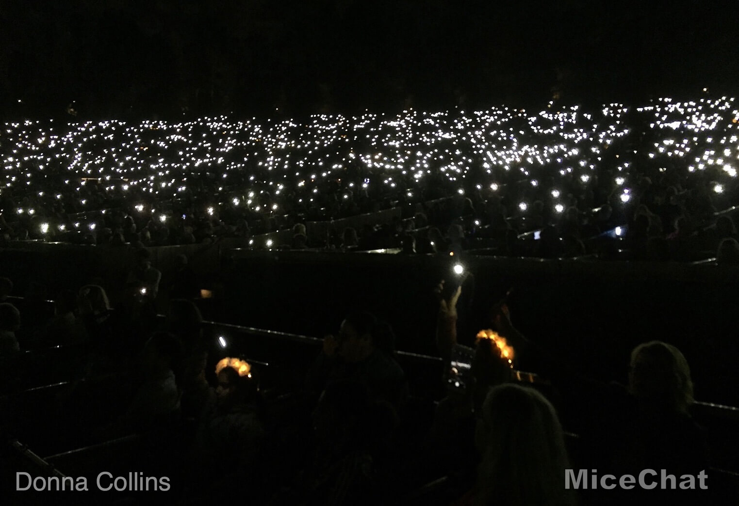
<path fill-rule="evenodd" d="M 182 117 L 732 94 L 738 19 L 699 0 L 0 0 L 0 103 Z"/>

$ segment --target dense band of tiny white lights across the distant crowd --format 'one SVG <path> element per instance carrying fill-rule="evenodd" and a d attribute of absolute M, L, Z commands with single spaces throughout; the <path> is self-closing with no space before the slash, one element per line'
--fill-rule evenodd
<path fill-rule="evenodd" d="M 635 118 L 646 120 L 653 131 L 653 144 L 641 153 L 625 147 Z M 302 122 L 219 117 L 61 128 L 52 122 L 4 123 L 0 194 L 30 201 L 7 210 L 20 219 L 44 219 L 60 211 L 60 205 L 65 213 L 98 211 L 101 199 L 92 198 L 98 192 L 137 202 L 134 209 L 142 218 L 151 212 L 155 219 L 155 208 L 160 208 L 158 219 L 166 223 L 171 215 L 166 210 L 192 196 L 194 182 L 202 188 L 203 177 L 211 178 L 212 203 L 201 213 L 217 217 L 232 206 L 270 215 L 298 202 L 325 205 L 327 185 L 333 185 L 340 202 L 370 190 L 420 199 L 429 180 L 440 180 L 449 196 L 467 196 L 474 188 L 506 188 L 510 194 L 521 183 L 539 191 L 550 179 L 557 188 L 566 188 L 564 180 L 588 188 L 598 179 L 594 171 L 606 157 L 613 161 L 614 152 L 619 174 L 612 184 L 622 188 L 621 202 L 632 198 L 624 185 L 635 182 L 630 171 L 640 156 L 681 160 L 692 173 L 710 171 L 711 188 L 723 194 L 737 177 L 738 121 L 734 99 L 724 97 L 680 103 L 661 98 L 636 108 L 611 103 L 597 114 L 583 113 L 578 106 L 557 110 L 551 103 L 536 114 L 492 108 L 314 115 Z M 91 181 L 95 184 L 86 185 Z M 567 205 L 557 201 L 560 190 L 542 189 L 554 199 L 554 211 L 563 213 Z M 531 208 L 525 199 L 516 202 L 521 214 Z M 48 222 L 35 227 L 43 234 L 53 230 Z M 85 227 L 95 230 L 95 223 L 84 222 Z M 74 228 L 81 228 L 79 222 Z"/>

